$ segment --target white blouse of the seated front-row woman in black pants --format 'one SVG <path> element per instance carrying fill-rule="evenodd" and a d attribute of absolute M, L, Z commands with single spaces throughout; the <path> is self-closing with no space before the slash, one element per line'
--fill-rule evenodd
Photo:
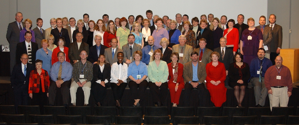
<path fill-rule="evenodd" d="M 128 65 L 126 63 L 113 63 L 111 66 L 111 83 L 118 83 L 117 80 L 122 80 L 127 83 Z"/>

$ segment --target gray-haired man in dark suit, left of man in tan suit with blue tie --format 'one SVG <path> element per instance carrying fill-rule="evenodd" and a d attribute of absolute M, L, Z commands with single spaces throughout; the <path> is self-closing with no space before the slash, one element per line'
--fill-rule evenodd
<path fill-rule="evenodd" d="M 88 60 L 93 64 L 97 63 L 99 55 L 104 54 L 105 49 L 107 48 L 106 46 L 101 45 L 101 41 L 102 41 L 102 36 L 100 36 L 99 34 L 95 35 L 94 42 L 96 43 L 96 45 L 89 48 Z"/>

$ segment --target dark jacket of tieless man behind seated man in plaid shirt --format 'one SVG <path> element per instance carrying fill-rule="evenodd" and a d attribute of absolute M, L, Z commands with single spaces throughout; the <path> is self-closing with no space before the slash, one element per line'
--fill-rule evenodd
<path fill-rule="evenodd" d="M 81 42 L 80 48 L 78 49 L 77 42 L 73 42 L 70 44 L 68 48 L 68 58 L 71 60 L 70 63 L 74 65 L 73 60 L 80 60 L 81 51 L 85 50 L 87 55 L 89 55 L 89 45 L 85 42 Z"/>

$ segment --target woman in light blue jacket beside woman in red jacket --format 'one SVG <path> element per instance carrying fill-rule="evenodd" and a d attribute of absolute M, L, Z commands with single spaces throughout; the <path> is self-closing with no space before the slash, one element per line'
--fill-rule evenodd
<path fill-rule="evenodd" d="M 47 39 L 43 39 L 41 42 L 41 47 L 39 50 L 36 51 L 36 60 L 42 60 L 42 69 L 48 71 L 50 74 L 51 69 L 51 58 L 52 58 L 52 51 L 49 50 L 47 47 L 49 42 Z"/>

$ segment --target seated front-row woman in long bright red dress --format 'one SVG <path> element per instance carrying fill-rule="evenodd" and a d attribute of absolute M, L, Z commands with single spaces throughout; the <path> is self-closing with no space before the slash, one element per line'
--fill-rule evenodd
<path fill-rule="evenodd" d="M 225 66 L 218 61 L 219 57 L 220 54 L 218 52 L 212 52 L 210 55 L 212 62 L 206 65 L 206 86 L 210 92 L 211 101 L 216 107 L 222 106 L 222 103 L 226 101 L 226 88 L 224 86 L 226 78 Z"/>

